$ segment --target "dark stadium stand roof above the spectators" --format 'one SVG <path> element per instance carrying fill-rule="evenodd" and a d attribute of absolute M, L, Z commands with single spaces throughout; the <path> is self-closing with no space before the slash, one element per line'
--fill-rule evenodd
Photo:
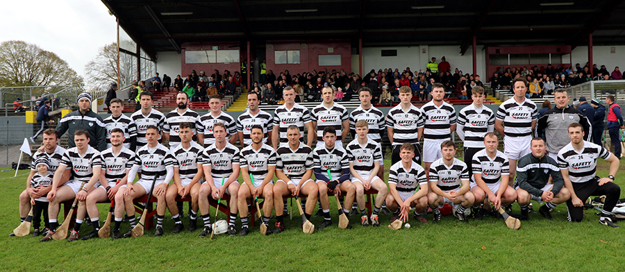
<path fill-rule="evenodd" d="M 349 39 L 353 45 L 625 44 L 625 0 L 102 0 L 152 57 L 183 42 Z"/>

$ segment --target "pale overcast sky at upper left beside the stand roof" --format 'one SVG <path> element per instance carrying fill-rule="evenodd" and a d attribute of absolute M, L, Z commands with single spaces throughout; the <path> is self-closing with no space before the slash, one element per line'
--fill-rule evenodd
<path fill-rule="evenodd" d="M 99 0 L 4 1 L 0 42 L 22 40 L 56 53 L 78 75 L 101 46 L 117 41 L 115 17 Z"/>

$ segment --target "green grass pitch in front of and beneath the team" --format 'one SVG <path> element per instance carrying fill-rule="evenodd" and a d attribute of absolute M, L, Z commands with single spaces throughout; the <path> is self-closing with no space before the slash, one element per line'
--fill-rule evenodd
<path fill-rule="evenodd" d="M 385 169 L 390 160 L 385 160 Z M 2 170 L 2 169 L 0 169 Z M 599 176 L 608 175 L 608 164 L 600 160 Z M 386 228 L 389 216 L 380 215 L 380 228 L 363 228 L 357 217 L 351 217 L 352 230 L 340 230 L 334 201 L 331 199 L 333 226 L 315 230 L 313 235 L 301 232 L 297 208 L 293 220 L 285 219 L 287 229 L 280 235 L 264 237 L 257 227 L 247 237 L 216 236 L 200 239 L 195 232 L 171 233 L 173 221 L 165 216 L 165 235 L 153 237 L 153 229 L 137 239 L 92 239 L 90 241 L 49 241 L 40 238 L 8 237 L 19 225 L 18 196 L 24 189 L 28 170 L 0 172 L 0 269 L 3 271 L 190 271 L 196 269 L 278 269 L 281 271 L 385 271 L 408 269 L 471 271 L 620 271 L 624 230 L 599 224 L 595 210 L 587 210 L 581 223 L 566 220 L 565 205 L 553 211 L 554 221 L 540 214 L 530 214 L 515 231 L 502 220 L 487 217 L 483 221 L 461 223 L 453 216 L 443 216 L 438 224 L 417 223 L 410 217 L 412 228 Z M 386 172 L 387 176 L 387 172 Z M 625 178 L 615 181 L 625 187 Z M 535 203 L 535 210 L 537 210 Z M 187 210 L 185 205 L 185 211 Z M 100 219 L 106 219 L 108 205 L 101 204 Z M 519 212 L 517 204 L 513 212 Z M 211 215 L 212 216 L 212 215 Z M 185 212 L 186 217 L 186 212 Z M 226 219 L 219 213 L 218 218 Z M 426 216 L 428 221 L 432 215 Z M 62 219 L 60 219 L 62 220 Z M 322 218 L 311 219 L 316 225 Z M 188 217 L 183 221 L 188 226 Z M 273 229 L 272 219 L 269 230 Z M 201 219 L 199 219 L 201 226 Z M 625 228 L 625 223 L 620 225 Z M 91 232 L 83 226 L 81 235 Z M 122 232 L 128 223 L 122 224 Z M 240 230 L 240 221 L 237 221 Z M 32 230 L 31 230 L 32 233 Z"/>

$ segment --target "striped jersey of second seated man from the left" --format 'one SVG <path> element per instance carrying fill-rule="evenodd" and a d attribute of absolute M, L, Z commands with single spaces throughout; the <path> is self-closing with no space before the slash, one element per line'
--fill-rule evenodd
<path fill-rule="evenodd" d="M 67 149 L 63 154 L 60 165 L 65 165 L 72 169 L 74 181 L 89 182 L 93 176 L 93 169 L 102 167 L 102 158 L 100 152 L 89 146 L 85 155 L 78 153 L 77 147 Z"/>

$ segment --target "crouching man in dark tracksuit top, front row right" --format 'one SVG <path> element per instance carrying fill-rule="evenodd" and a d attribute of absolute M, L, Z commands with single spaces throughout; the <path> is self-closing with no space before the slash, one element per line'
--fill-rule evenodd
<path fill-rule="evenodd" d="M 565 181 L 556 160 L 547 155 L 544 139 L 534 138 L 530 143 L 531 153 L 524 155 L 517 164 L 517 202 L 521 206 L 522 219 L 527 220 L 531 200 L 547 201 L 538 212 L 551 220 L 551 210 L 567 201 L 571 194 L 567 188 L 562 187 Z M 553 179 L 553 184 L 549 184 L 549 177 Z"/>

